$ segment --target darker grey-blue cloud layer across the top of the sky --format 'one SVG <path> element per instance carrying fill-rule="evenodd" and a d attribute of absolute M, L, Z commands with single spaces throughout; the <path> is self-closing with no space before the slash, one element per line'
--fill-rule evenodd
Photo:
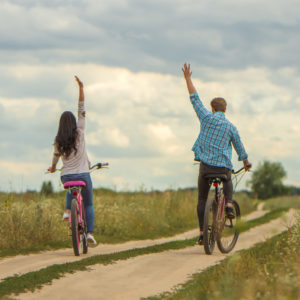
<path fill-rule="evenodd" d="M 173 75 L 185 60 L 195 68 L 295 68 L 299 10 L 296 0 L 2 1 L 0 61 Z"/>

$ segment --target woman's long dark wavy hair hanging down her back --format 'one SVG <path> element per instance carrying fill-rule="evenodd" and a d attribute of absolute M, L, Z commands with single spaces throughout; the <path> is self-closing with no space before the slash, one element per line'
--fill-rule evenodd
<path fill-rule="evenodd" d="M 70 111 L 63 112 L 59 120 L 58 131 L 55 137 L 55 145 L 58 153 L 66 158 L 69 157 L 73 150 L 75 150 L 76 154 L 77 136 L 78 133 L 75 116 Z"/>

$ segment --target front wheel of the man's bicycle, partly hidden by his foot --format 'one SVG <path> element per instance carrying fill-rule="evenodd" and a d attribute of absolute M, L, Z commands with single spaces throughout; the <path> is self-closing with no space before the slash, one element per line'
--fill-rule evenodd
<path fill-rule="evenodd" d="M 228 219 L 224 213 L 223 228 L 216 236 L 218 248 L 222 253 L 229 253 L 234 248 L 239 237 L 236 223 L 241 217 L 241 211 L 236 201 L 233 200 L 232 204 L 236 217 L 234 219 Z"/>

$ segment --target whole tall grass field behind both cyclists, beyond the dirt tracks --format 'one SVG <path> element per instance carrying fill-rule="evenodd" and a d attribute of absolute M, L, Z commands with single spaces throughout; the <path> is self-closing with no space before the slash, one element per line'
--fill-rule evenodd
<path fill-rule="evenodd" d="M 237 194 L 242 213 L 256 207 L 246 194 Z M 94 191 L 95 236 L 98 242 L 170 236 L 198 226 L 197 191 Z M 0 256 L 71 247 L 66 223 L 61 221 L 65 194 L 0 194 Z M 8 238 L 9 237 L 9 238 Z"/>

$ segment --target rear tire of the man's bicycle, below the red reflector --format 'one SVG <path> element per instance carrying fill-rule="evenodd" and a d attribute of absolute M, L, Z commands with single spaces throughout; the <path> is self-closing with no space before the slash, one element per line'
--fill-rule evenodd
<path fill-rule="evenodd" d="M 212 254 L 215 248 L 214 219 L 216 215 L 216 202 L 214 198 L 206 201 L 203 222 L 203 243 L 206 254 Z"/>

